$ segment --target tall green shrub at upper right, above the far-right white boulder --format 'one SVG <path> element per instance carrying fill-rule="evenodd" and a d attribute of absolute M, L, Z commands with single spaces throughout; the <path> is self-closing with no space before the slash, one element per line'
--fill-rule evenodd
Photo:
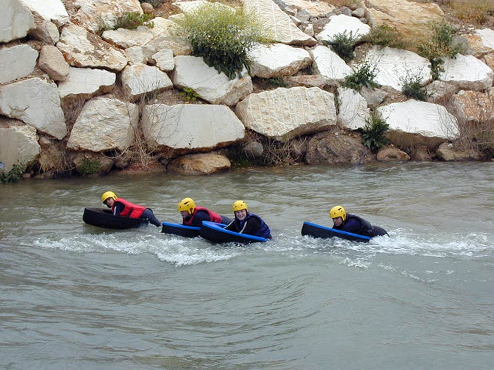
<path fill-rule="evenodd" d="M 438 80 L 441 72 L 444 72 L 444 57 L 455 58 L 456 54 L 463 52 L 459 44 L 453 45 L 454 27 L 448 23 L 433 23 L 432 38 L 418 46 L 418 52 L 422 57 L 431 62 L 432 79 Z"/>

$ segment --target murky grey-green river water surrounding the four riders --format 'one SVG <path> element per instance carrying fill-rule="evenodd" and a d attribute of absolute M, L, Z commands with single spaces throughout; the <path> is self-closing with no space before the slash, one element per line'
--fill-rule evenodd
<path fill-rule="evenodd" d="M 274 240 L 248 247 L 83 224 L 103 191 L 177 202 Z M 494 163 L 25 180 L 0 186 L 4 369 L 492 369 Z M 343 205 L 391 237 L 314 239 Z"/>

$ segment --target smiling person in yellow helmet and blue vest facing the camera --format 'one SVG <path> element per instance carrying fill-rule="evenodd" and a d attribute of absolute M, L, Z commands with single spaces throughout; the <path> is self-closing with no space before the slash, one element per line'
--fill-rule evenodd
<path fill-rule="evenodd" d="M 250 213 L 243 200 L 237 200 L 233 204 L 235 219 L 225 229 L 235 231 L 240 234 L 248 234 L 271 239 L 271 230 L 264 223 L 262 218 L 254 213 Z"/>

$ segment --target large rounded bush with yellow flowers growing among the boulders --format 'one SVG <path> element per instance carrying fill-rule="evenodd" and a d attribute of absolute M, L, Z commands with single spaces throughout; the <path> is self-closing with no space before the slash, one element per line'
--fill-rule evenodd
<path fill-rule="evenodd" d="M 206 3 L 177 21 L 187 34 L 192 55 L 233 80 L 245 66 L 256 42 L 267 41 L 266 26 L 243 8 Z"/>

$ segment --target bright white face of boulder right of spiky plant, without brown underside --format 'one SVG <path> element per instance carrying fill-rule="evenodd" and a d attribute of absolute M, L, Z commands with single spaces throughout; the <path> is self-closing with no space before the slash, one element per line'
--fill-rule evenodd
<path fill-rule="evenodd" d="M 458 135 L 456 118 L 442 105 L 408 100 L 377 108 L 391 131 L 424 138 L 453 140 Z"/>

